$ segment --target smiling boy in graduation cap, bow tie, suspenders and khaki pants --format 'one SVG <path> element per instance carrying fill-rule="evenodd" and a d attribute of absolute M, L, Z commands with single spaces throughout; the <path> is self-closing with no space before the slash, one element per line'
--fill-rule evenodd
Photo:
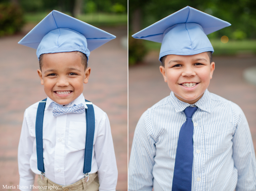
<path fill-rule="evenodd" d="M 115 190 L 117 166 L 107 114 L 84 99 L 90 51 L 115 36 L 52 11 L 20 42 L 37 49 L 47 99 L 25 110 L 18 147 L 21 191 Z"/>

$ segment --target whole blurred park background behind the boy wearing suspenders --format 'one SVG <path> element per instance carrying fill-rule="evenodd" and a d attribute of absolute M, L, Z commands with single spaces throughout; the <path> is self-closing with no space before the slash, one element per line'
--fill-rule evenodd
<path fill-rule="evenodd" d="M 117 37 L 91 52 L 92 70 L 83 94 L 108 114 L 118 167 L 116 190 L 126 191 L 127 0 L 0 0 L 0 190 L 19 190 L 17 148 L 23 113 L 46 97 L 37 75 L 36 50 L 17 43 L 52 10 Z"/>

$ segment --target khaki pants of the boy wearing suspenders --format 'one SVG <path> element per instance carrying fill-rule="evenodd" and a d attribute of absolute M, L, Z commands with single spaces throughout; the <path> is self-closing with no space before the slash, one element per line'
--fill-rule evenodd
<path fill-rule="evenodd" d="M 56 184 L 55 182 L 49 180 L 46 177 L 44 177 L 44 179 L 42 180 L 41 176 L 38 175 L 37 183 L 39 185 L 39 191 L 47 191 L 47 190 L 50 190 L 50 188 L 51 190 L 56 190 L 57 186 L 59 186 L 57 191 L 85 191 L 85 190 L 98 191 L 100 186 L 98 174 L 97 173 L 89 174 L 88 182 L 86 182 L 87 179 L 88 177 L 85 177 L 73 184 L 62 186 L 62 185 Z"/>

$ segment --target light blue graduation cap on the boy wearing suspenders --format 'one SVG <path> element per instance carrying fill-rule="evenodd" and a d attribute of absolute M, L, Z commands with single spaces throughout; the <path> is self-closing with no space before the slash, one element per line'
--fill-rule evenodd
<path fill-rule="evenodd" d="M 87 58 L 90 51 L 115 39 L 114 35 L 83 21 L 53 10 L 18 43 L 41 54 L 79 51 Z"/>

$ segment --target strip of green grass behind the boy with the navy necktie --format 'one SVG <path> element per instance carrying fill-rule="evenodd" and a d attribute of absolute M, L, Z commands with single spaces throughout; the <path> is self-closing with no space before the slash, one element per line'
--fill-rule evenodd
<path fill-rule="evenodd" d="M 229 40 L 223 44 L 220 39 L 211 39 L 214 48 L 214 56 L 216 55 L 235 55 L 235 54 L 256 54 L 256 40 Z M 144 40 L 144 45 L 150 50 L 160 51 L 161 43 L 155 43 Z"/>

